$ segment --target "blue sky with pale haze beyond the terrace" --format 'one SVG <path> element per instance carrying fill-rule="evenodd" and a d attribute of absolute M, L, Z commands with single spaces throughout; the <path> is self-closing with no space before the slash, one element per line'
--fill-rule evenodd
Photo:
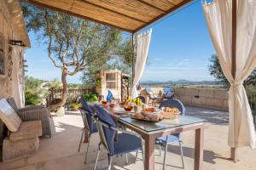
<path fill-rule="evenodd" d="M 207 31 L 201 1 L 150 27 L 153 31 L 148 51 L 149 64 L 145 66 L 141 81 L 213 80 L 208 65 L 215 50 Z M 38 43 L 32 32 L 29 37 L 32 48 L 26 50 L 29 65 L 26 75 L 43 80 L 59 77 L 60 80 L 61 70 L 49 60 L 46 45 Z M 67 82 L 81 83 L 80 77 L 81 73 L 67 77 Z"/>

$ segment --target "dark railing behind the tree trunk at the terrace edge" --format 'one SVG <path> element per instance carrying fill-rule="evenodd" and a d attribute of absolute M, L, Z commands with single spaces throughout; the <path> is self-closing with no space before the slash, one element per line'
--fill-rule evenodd
<path fill-rule="evenodd" d="M 78 102 L 83 94 L 95 93 L 95 88 L 68 89 L 67 102 Z M 46 98 L 47 104 L 54 99 L 61 99 L 62 89 L 49 89 L 49 94 Z"/>

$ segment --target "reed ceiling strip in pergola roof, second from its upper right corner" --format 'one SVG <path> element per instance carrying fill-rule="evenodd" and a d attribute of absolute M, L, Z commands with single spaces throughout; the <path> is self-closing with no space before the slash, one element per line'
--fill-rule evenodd
<path fill-rule="evenodd" d="M 86 0 L 86 2 L 94 3 L 120 14 L 143 20 L 144 22 L 148 22 L 152 18 L 164 13 L 162 9 L 151 7 L 138 0 Z M 148 11 L 150 12 L 148 13 Z"/>

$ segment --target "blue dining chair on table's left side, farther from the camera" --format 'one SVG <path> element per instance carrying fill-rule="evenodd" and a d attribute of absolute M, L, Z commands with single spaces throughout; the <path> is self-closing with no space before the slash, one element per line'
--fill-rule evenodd
<path fill-rule="evenodd" d="M 87 148 L 85 151 L 85 157 L 84 157 L 84 163 L 87 163 L 88 160 L 88 151 L 89 151 L 89 145 L 90 145 L 90 136 L 93 133 L 97 133 L 97 128 L 96 128 L 96 124 L 95 122 L 93 122 L 92 116 L 94 115 L 92 109 L 90 108 L 90 106 L 87 104 L 87 102 L 81 98 L 80 102 L 82 104 L 82 108 L 79 108 L 79 111 L 81 112 L 81 116 L 83 118 L 83 122 L 84 122 L 84 127 L 82 129 L 82 134 L 81 134 L 81 138 L 80 138 L 80 142 L 79 142 L 79 151 L 81 148 L 81 144 L 84 138 L 84 130 L 86 128 L 86 130 L 88 130 L 89 134 L 88 134 L 88 144 L 87 144 Z"/>

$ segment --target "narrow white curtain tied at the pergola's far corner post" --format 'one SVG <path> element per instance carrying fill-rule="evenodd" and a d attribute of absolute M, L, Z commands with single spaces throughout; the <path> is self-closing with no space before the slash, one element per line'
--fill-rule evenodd
<path fill-rule="evenodd" d="M 131 97 L 137 98 L 137 84 L 143 76 L 144 67 L 148 57 L 148 48 L 152 29 L 137 36 L 137 59 L 134 69 L 134 78 L 132 83 Z"/>

